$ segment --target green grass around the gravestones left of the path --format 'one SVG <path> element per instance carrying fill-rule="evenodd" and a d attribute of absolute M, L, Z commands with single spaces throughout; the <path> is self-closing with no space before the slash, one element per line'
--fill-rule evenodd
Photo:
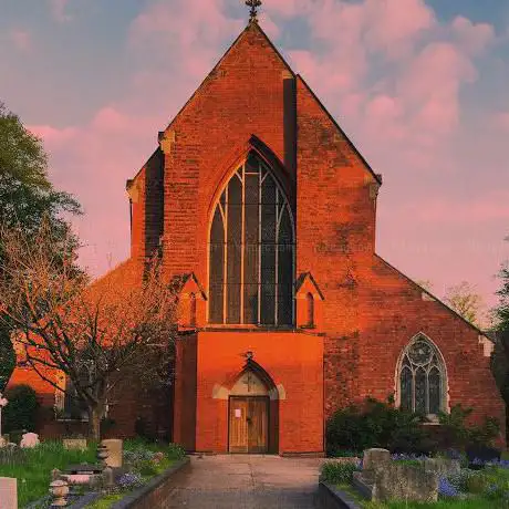
<path fill-rule="evenodd" d="M 135 454 L 143 451 L 165 453 L 165 458 L 158 464 L 142 460 L 138 465 L 139 477 L 147 480 L 169 468 L 178 458 L 177 451 L 162 444 L 152 444 L 143 440 L 125 440 L 124 450 Z M 0 477 L 15 477 L 18 479 L 18 505 L 20 508 L 38 500 L 45 495 L 50 487 L 51 470 L 76 464 L 95 464 L 96 444 L 92 443 L 84 451 L 66 450 L 60 442 L 43 442 L 33 449 L 15 449 L 8 453 L 0 449 Z M 122 498 L 122 497 L 121 497 Z M 105 509 L 115 500 L 101 500 L 94 509 Z"/>

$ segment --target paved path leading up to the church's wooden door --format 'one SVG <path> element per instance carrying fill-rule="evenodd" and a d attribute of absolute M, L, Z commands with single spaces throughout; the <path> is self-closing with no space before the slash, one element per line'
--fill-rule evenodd
<path fill-rule="evenodd" d="M 193 457 L 174 476 L 163 508 L 315 509 L 321 459 L 279 456 Z"/>

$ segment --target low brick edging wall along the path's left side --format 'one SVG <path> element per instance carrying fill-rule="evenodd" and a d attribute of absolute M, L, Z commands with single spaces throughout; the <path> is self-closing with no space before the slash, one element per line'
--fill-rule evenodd
<path fill-rule="evenodd" d="M 189 458 L 177 461 L 172 468 L 152 479 L 143 488 L 133 491 L 129 496 L 114 503 L 112 509 L 154 509 L 162 507 L 172 490 L 172 476 L 188 465 Z"/>

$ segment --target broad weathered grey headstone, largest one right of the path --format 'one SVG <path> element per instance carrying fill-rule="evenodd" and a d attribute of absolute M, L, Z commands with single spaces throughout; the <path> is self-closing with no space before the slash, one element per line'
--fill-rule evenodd
<path fill-rule="evenodd" d="M 404 500 L 436 502 L 438 500 L 438 475 L 426 471 L 424 466 L 389 463 L 375 469 L 373 500 Z"/>

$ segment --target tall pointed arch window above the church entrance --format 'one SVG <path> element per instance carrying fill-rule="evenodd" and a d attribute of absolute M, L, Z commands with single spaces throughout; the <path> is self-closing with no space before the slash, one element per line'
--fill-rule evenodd
<path fill-rule="evenodd" d="M 290 204 L 253 153 L 226 185 L 210 225 L 209 322 L 293 323 Z"/>

